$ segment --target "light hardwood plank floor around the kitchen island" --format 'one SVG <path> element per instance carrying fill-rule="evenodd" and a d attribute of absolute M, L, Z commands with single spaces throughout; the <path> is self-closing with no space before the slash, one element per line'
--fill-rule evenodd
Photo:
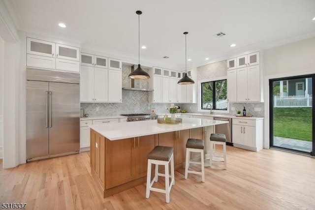
<path fill-rule="evenodd" d="M 89 152 L 82 152 L 0 167 L 0 203 L 27 203 L 30 210 L 315 210 L 315 158 L 227 146 L 227 170 L 222 168 L 206 166 L 206 182 L 176 171 L 169 204 L 162 193 L 146 199 L 145 184 L 104 199 L 90 174 Z"/>

